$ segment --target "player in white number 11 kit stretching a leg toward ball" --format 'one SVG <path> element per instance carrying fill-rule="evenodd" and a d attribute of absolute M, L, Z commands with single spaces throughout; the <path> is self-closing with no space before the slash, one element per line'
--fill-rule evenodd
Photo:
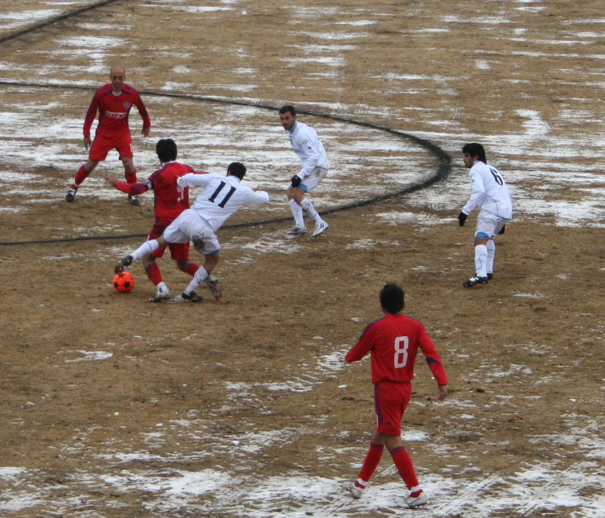
<path fill-rule="evenodd" d="M 227 167 L 226 176 L 217 173 L 189 173 L 178 177 L 177 185 L 180 189 L 203 187 L 193 208 L 181 212 L 159 238 L 145 241 L 136 251 L 120 260 L 116 264 L 116 273 L 162 246 L 193 241 L 194 248 L 204 255 L 204 264 L 195 272 L 191 283 L 185 288 L 181 297 L 192 302 L 201 301 L 201 295 L 197 295 L 195 290 L 201 286 L 201 283 L 208 280 L 212 269 L 218 264 L 220 244 L 215 233 L 229 217 L 243 206 L 269 202 L 269 194 L 266 192 L 255 192 L 240 184 L 245 174 L 246 166 L 240 162 L 232 162 Z M 217 281 L 208 286 L 211 288 L 214 298 L 218 300 L 223 289 Z"/>

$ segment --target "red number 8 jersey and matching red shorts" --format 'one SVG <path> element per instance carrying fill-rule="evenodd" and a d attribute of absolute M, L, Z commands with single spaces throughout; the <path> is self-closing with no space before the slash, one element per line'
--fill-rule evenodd
<path fill-rule="evenodd" d="M 424 326 L 401 313 L 386 313 L 384 318 L 369 324 L 356 346 L 345 356 L 345 361 L 352 362 L 371 352 L 378 433 L 401 435 L 401 419 L 410 402 L 418 348 L 427 358 L 437 385 L 446 385 L 445 369 Z"/>

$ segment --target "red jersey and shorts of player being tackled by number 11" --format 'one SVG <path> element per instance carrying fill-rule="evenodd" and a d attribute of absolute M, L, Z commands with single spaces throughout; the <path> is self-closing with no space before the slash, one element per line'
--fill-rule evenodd
<path fill-rule="evenodd" d="M 146 182 L 126 183 L 116 182 L 116 188 L 129 195 L 139 195 L 153 189 L 155 223 L 149 231 L 148 240 L 160 237 L 164 229 L 174 221 L 181 212 L 189 209 L 189 188 L 180 188 L 177 185 L 177 177 L 193 172 L 195 174 L 206 174 L 195 171 L 191 166 L 179 163 L 165 163 L 161 169 L 155 171 Z M 189 260 L 189 243 L 170 243 L 171 258 L 175 261 Z M 152 257 L 162 257 L 166 248 L 159 248 L 152 252 Z M 195 273 L 195 272 L 194 272 Z M 193 275 L 193 274 L 191 274 Z"/>

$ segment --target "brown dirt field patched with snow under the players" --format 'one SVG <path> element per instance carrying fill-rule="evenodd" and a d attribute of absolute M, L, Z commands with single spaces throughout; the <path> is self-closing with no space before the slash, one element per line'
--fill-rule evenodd
<path fill-rule="evenodd" d="M 450 378 L 436 402 L 419 358 L 404 418 L 430 496 L 417 512 L 604 516 L 601 2 L 200 3 L 116 1 L 1 44 L 1 241 L 62 241 L 0 244 L 0 514 L 408 516 L 388 455 L 364 499 L 342 490 L 373 424 L 370 364 L 344 354 L 395 281 Z M 2 2 L 0 38 L 93 4 Z M 114 292 L 114 264 L 153 220 L 151 195 L 134 208 L 103 183 L 122 172 L 116 156 L 65 202 L 88 103 L 116 63 L 147 93 L 149 139 L 131 114 L 140 178 L 171 136 L 181 161 L 222 172 L 242 160 L 270 193 L 229 221 L 250 225 L 218 234 L 220 303 L 206 290 L 201 304 L 149 303 L 140 263 L 133 292 Z M 275 112 L 253 106 L 285 102 L 427 139 L 451 172 L 327 215 L 316 239 L 287 236 L 289 220 L 252 225 L 289 217 L 298 162 Z M 312 193 L 320 211 L 439 166 L 405 135 L 301 120 L 332 162 Z M 462 229 L 453 218 L 471 140 L 511 185 L 515 219 L 494 281 L 463 289 L 476 213 Z M 188 276 L 159 264 L 177 295 Z"/>

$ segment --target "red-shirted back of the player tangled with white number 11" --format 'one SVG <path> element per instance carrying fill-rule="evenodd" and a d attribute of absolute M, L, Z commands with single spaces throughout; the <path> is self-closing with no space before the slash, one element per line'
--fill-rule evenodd
<path fill-rule="evenodd" d="M 155 217 L 174 220 L 189 208 L 189 188 L 177 185 L 177 178 L 189 172 L 196 172 L 191 166 L 180 162 L 168 162 L 149 178 L 154 191 Z"/>

